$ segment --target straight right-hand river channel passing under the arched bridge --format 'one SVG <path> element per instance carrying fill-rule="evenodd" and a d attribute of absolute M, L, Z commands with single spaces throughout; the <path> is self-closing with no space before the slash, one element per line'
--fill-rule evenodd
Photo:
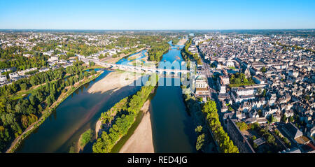
<path fill-rule="evenodd" d="M 171 50 L 162 57 L 162 61 L 183 61 L 180 45 L 172 45 Z M 182 90 L 179 78 L 160 78 L 156 94 L 151 100 L 151 120 L 153 145 L 155 152 L 186 153 L 195 150 L 195 127 L 192 118 L 188 115 L 183 103 Z M 171 86 L 167 86 L 172 83 Z"/>

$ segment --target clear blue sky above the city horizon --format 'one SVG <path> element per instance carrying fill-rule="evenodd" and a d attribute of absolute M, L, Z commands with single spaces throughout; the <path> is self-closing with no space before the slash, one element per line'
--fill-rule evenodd
<path fill-rule="evenodd" d="M 0 29 L 314 29 L 314 0 L 0 0 Z"/>

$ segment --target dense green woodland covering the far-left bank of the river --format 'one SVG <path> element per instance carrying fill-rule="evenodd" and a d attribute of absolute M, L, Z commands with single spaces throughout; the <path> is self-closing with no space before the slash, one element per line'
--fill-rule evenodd
<path fill-rule="evenodd" d="M 0 89 L 0 151 L 4 152 L 10 142 L 20 136 L 41 117 L 43 110 L 57 101 L 74 83 L 96 72 L 83 71 L 82 62 L 75 62 L 66 69 L 57 68 L 32 75 L 5 85 Z M 63 80 L 62 78 L 67 78 Z M 36 86 L 36 87 L 35 87 Z M 32 87 L 28 98 L 15 99 L 15 93 Z"/>

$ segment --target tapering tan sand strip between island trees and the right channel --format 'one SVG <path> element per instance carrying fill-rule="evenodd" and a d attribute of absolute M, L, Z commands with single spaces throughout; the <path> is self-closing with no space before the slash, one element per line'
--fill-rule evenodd
<path fill-rule="evenodd" d="M 141 110 L 144 111 L 144 117 L 132 136 L 120 149 L 120 153 L 154 153 L 150 101 L 146 101 Z"/>

